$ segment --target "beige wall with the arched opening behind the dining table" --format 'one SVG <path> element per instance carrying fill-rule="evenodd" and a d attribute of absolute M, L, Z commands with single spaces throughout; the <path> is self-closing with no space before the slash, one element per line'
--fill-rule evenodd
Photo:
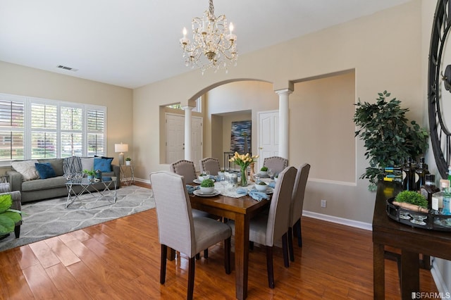
<path fill-rule="evenodd" d="M 354 101 L 358 97 L 362 101 L 374 101 L 378 92 L 387 89 L 402 100 L 403 106 L 411 108 L 409 118 L 422 120 L 425 111 L 421 94 L 421 59 L 427 58 L 421 57 L 420 4 L 421 1 L 412 1 L 242 55 L 237 67 L 229 70 L 228 74 L 202 76 L 198 70 L 194 70 L 135 89 L 133 139 L 136 141 L 136 155 L 140 159 L 135 174 L 146 179 L 152 171 L 168 170 L 168 165 L 159 163 L 159 145 L 156 144 L 159 137 L 152 130 L 159 125 L 158 113 L 155 111 L 157 106 L 178 101 L 187 103 L 209 89 L 231 81 L 261 80 L 271 82 L 273 89 L 283 89 L 290 87 L 290 82 L 355 70 Z M 277 94 L 271 97 L 273 102 L 259 104 L 262 111 L 278 108 Z M 247 101 L 242 101 L 241 105 L 242 110 L 252 109 Z M 215 109 L 218 111 L 209 113 L 221 113 L 221 109 L 228 109 L 228 103 Z M 254 120 L 254 111 L 252 114 Z M 329 122 L 334 124 L 337 120 L 331 119 Z M 252 134 L 255 135 L 254 129 Z M 367 161 L 364 158 L 363 142 L 354 142 L 355 183 L 309 182 L 305 209 L 371 223 L 375 195 L 368 192 L 366 180 L 357 179 L 364 173 Z M 340 156 L 342 154 L 337 153 L 337 157 Z M 320 207 L 321 199 L 328 201 L 327 208 Z"/>

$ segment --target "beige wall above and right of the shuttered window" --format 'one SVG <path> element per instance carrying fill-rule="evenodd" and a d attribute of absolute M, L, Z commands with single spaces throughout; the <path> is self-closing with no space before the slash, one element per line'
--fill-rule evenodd
<path fill-rule="evenodd" d="M 0 93 L 106 106 L 107 155 L 118 163 L 114 144 L 129 144 L 133 158 L 132 89 L 0 61 Z"/>

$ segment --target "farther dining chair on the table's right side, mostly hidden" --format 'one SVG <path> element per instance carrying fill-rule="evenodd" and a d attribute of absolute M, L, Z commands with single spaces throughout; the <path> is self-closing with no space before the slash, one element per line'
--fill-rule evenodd
<path fill-rule="evenodd" d="M 297 245 L 302 246 L 302 232 L 301 232 L 301 217 L 302 206 L 304 206 L 305 187 L 307 179 L 309 178 L 310 165 L 304 163 L 297 169 L 295 186 L 293 187 L 291 206 L 290 206 L 290 221 L 288 223 L 288 251 L 290 253 L 290 260 L 295 261 L 295 252 L 293 249 L 293 230 L 297 233 Z"/>

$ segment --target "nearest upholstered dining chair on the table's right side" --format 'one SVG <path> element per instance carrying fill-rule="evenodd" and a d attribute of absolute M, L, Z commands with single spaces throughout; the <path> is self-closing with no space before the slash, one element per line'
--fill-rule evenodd
<path fill-rule="evenodd" d="M 268 213 L 261 213 L 252 218 L 249 223 L 249 242 L 255 242 L 266 248 L 266 270 L 268 272 L 268 286 L 273 289 L 273 246 L 282 238 L 283 262 L 285 268 L 290 265 L 288 258 L 288 219 L 292 189 L 295 185 L 296 168 L 287 167 L 279 173 L 276 187 L 271 198 Z M 228 224 L 235 231 L 235 223 L 229 220 Z"/>

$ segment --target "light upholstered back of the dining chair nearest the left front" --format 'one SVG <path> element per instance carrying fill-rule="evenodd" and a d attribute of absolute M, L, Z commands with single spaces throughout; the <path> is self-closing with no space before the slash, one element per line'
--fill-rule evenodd
<path fill-rule="evenodd" d="M 183 176 L 160 171 L 150 174 L 160 244 L 190 257 L 195 253 L 191 203 Z"/>

